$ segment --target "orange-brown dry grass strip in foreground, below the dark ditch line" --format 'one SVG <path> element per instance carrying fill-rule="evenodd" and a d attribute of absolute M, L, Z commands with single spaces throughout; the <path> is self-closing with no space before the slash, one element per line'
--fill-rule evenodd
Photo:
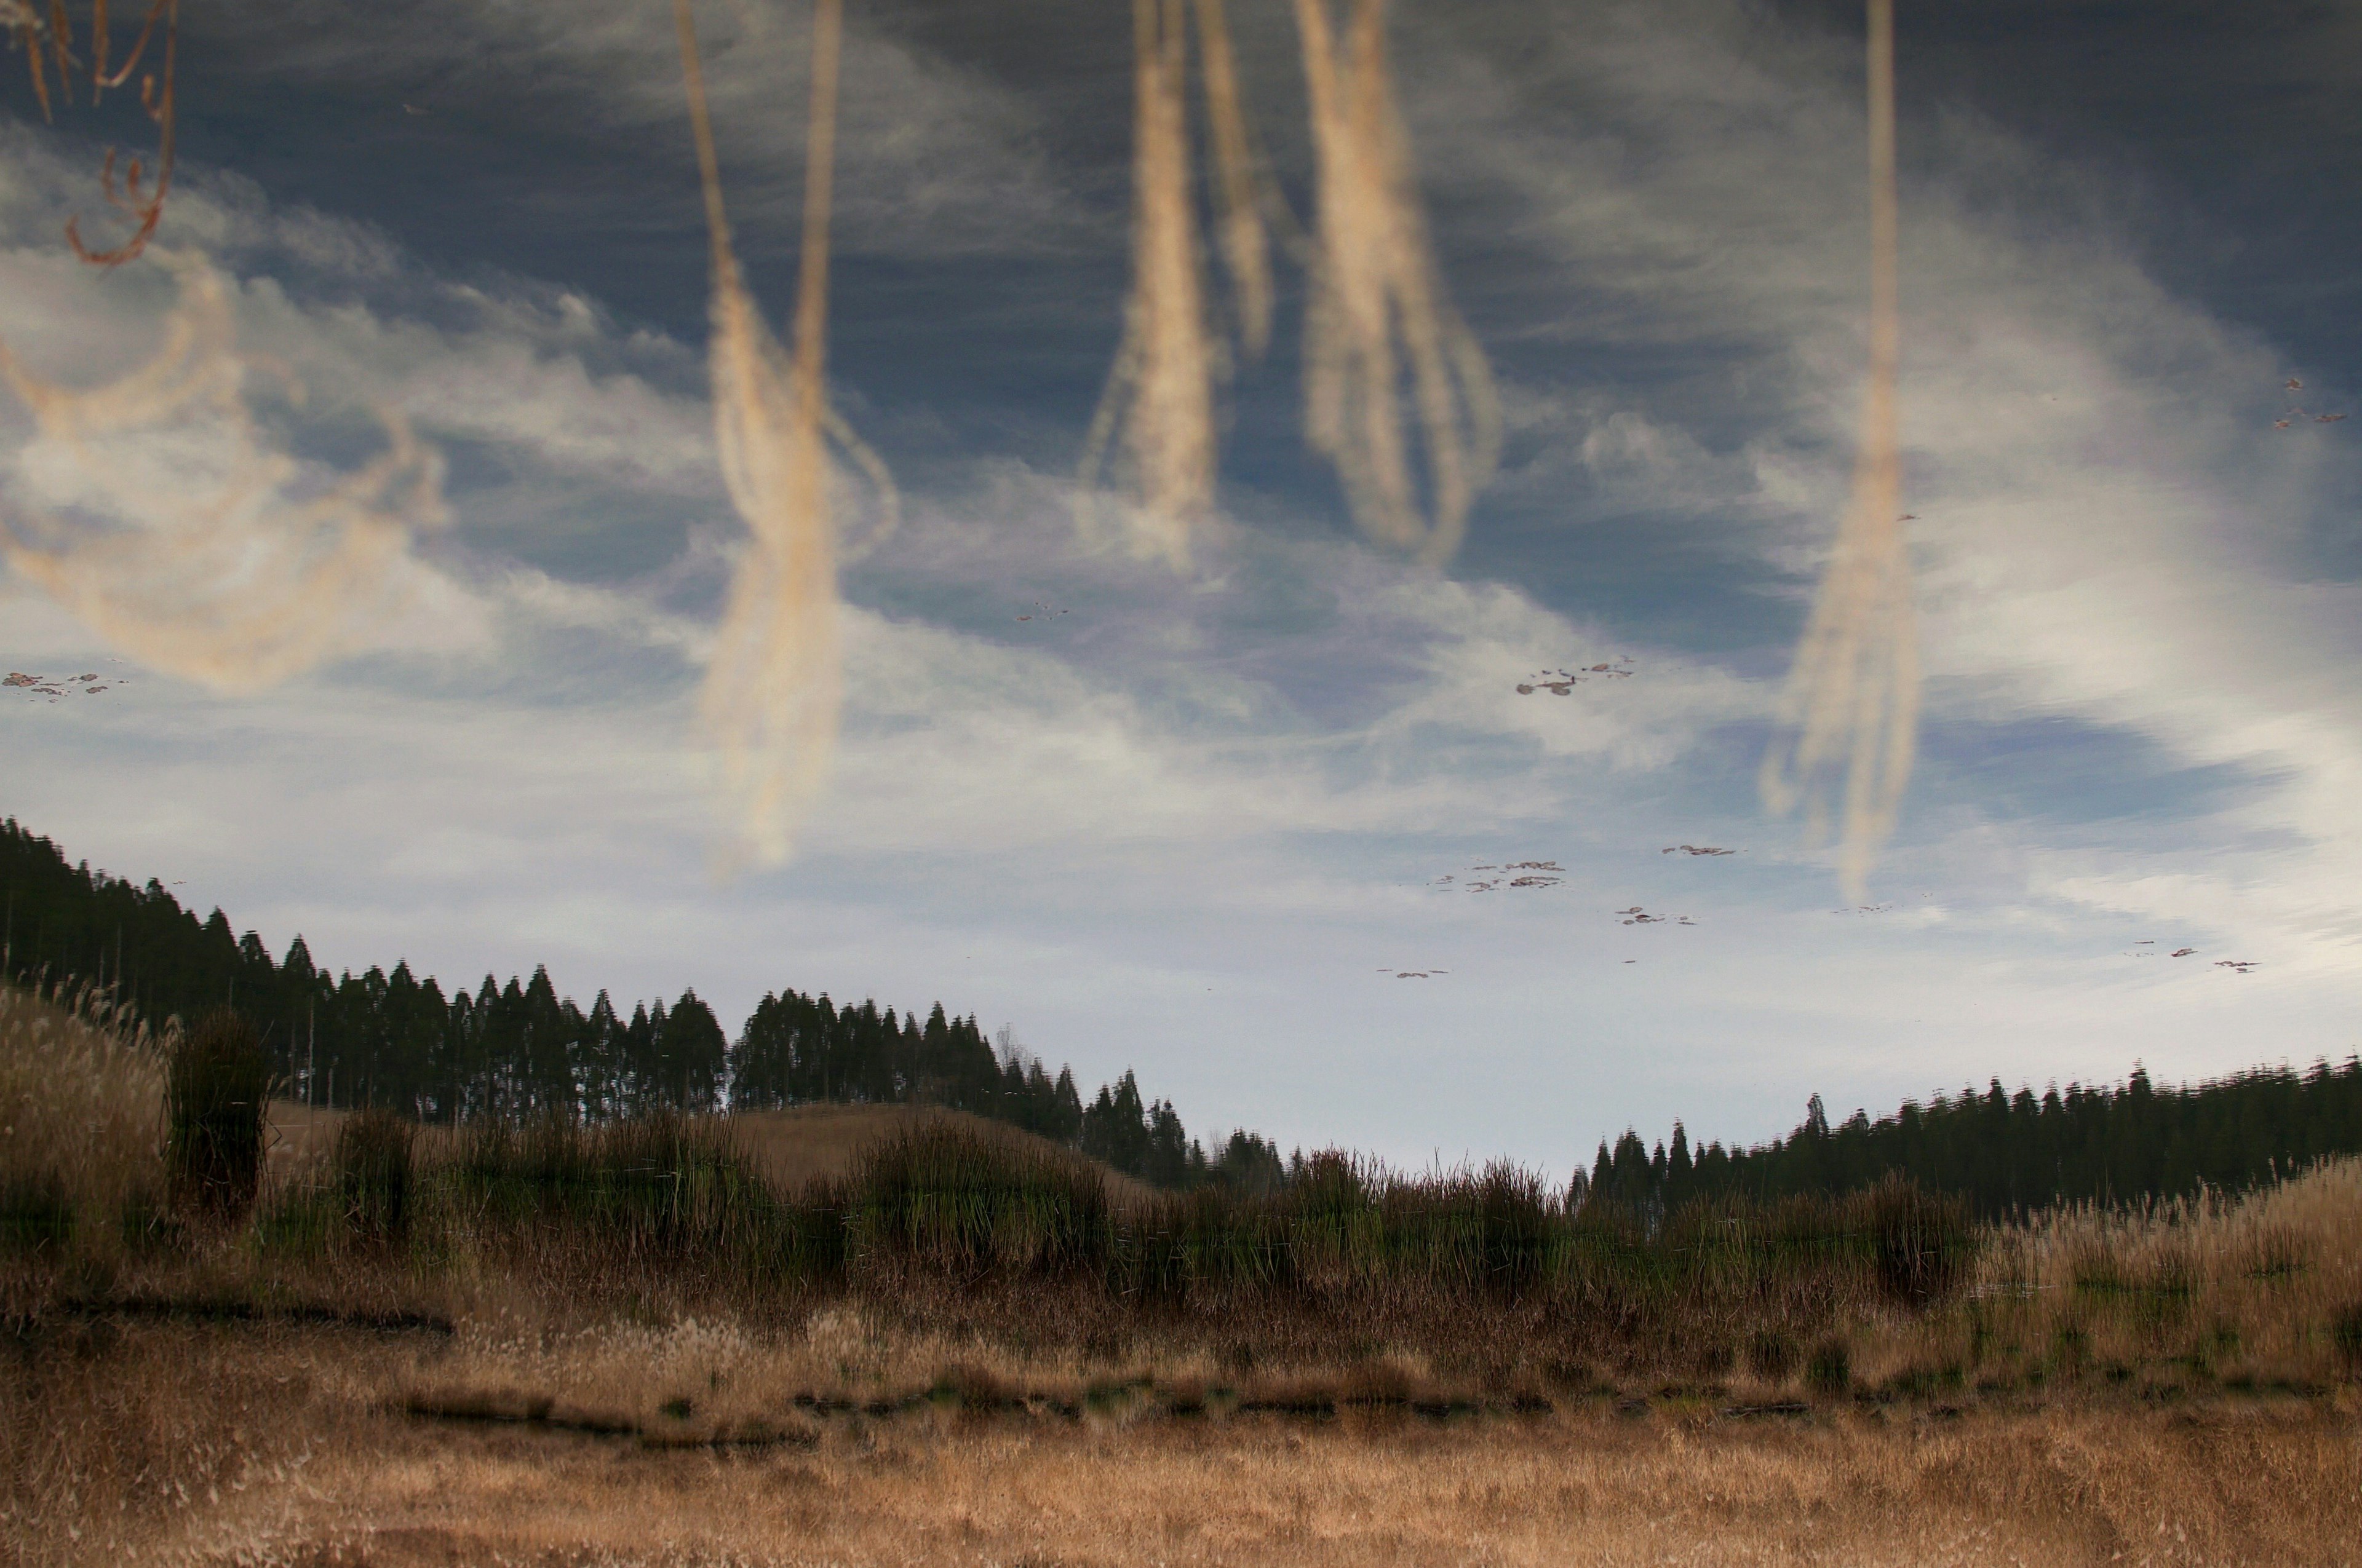
<path fill-rule="evenodd" d="M 652 1348 L 685 1372 L 685 1334 Z M 720 1344 L 720 1341 L 713 1341 Z M 633 1346 L 616 1346 L 631 1365 Z M 640 1346 L 647 1348 L 647 1346 Z M 463 1351 L 461 1351 L 463 1353 Z M 444 1351 L 76 1325 L 0 1381 L 24 1563 L 2353 1563 L 2348 1396 L 1729 1419 L 784 1412 L 676 1448 L 402 1410 Z"/>

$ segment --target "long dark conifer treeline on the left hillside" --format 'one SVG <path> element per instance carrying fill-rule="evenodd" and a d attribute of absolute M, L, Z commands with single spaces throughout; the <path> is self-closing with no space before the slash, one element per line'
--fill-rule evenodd
<path fill-rule="evenodd" d="M 198 921 L 156 881 L 135 886 L 50 838 L 0 822 L 0 968 L 19 985 L 76 978 L 142 1018 L 234 1006 L 265 1037 L 274 1074 L 312 1105 L 380 1105 L 420 1122 L 565 1115 L 588 1122 L 659 1110 L 770 1110 L 820 1100 L 945 1105 L 1013 1122 L 1155 1185 L 1228 1181 L 1268 1188 L 1278 1150 L 1233 1133 L 1209 1159 L 1169 1100 L 1146 1100 L 1131 1072 L 1091 1100 L 1061 1067 L 938 1001 L 921 1020 L 876 1001 L 779 992 L 732 1039 L 694 992 L 635 1001 L 607 992 L 581 1008 L 546 968 L 444 994 L 409 963 L 331 975 L 298 935 L 274 959 L 220 909 Z"/>

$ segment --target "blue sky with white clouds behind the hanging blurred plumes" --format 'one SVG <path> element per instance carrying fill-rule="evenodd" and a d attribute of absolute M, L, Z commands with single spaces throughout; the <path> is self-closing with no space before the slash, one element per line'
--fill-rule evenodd
<path fill-rule="evenodd" d="M 1136 1067 L 1198 1133 L 1410 1167 L 1564 1174 L 1675 1119 L 1750 1143 L 1812 1093 L 2341 1060 L 2362 420 L 2275 423 L 2362 404 L 2362 12 L 1897 12 L 1927 680 L 1868 907 L 1755 793 L 1866 371 L 1861 14 L 1819 0 L 1396 0 L 1500 475 L 1443 569 L 1361 541 L 1304 446 L 1283 267 L 1186 574 L 1072 522 L 1127 276 L 1124 7 L 853 0 L 831 394 L 907 515 L 843 574 L 831 786 L 737 876 L 694 699 L 742 527 L 668 7 L 191 5 L 158 246 L 234 279 L 241 352 L 300 378 L 267 425 L 305 472 L 399 411 L 449 527 L 399 614 L 246 694 L 0 574 L 12 671 L 130 675 L 0 701 L 0 812 L 333 968 L 546 963 L 725 1025 L 787 987 L 940 999 L 1087 1089 Z M 699 12 L 775 321 L 808 19 Z M 1233 0 L 1233 31 L 1306 213 L 1290 7 Z M 111 380 L 172 279 L 80 267 L 64 222 L 104 222 L 104 146 L 142 125 L 43 125 L 0 83 L 0 340 Z M 0 394 L 0 508 L 40 508 L 43 463 Z M 1467 890 L 1516 860 L 1564 881 Z"/>

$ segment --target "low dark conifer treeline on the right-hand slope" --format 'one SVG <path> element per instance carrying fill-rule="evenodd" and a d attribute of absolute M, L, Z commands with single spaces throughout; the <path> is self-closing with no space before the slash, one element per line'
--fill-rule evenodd
<path fill-rule="evenodd" d="M 1609 1202 L 1668 1214 L 1694 1200 L 1845 1193 L 1890 1171 L 1956 1193 L 1982 1219 L 2060 1202 L 2128 1204 L 2237 1193 L 2329 1155 L 2362 1152 L 2362 1058 L 2305 1072 L 2256 1067 L 2185 1089 L 2157 1089 L 2133 1067 L 2119 1086 L 2010 1093 L 1994 1079 L 1871 1122 L 1831 1126 L 1821 1096 L 1786 1138 L 1748 1150 L 1691 1150 L 1679 1122 L 1653 1150 L 1625 1131 L 1578 1185 Z"/>

